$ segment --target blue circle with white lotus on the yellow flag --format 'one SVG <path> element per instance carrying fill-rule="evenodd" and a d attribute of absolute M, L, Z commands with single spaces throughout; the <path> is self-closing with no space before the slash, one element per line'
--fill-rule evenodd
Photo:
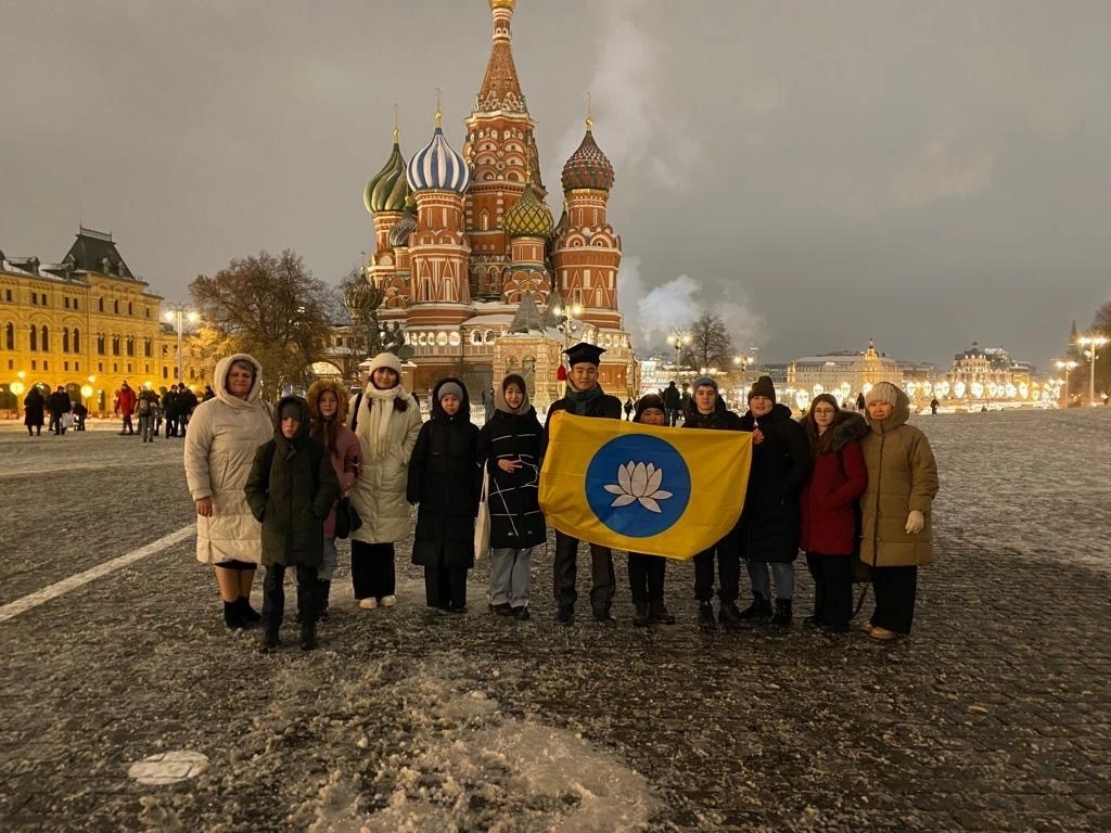
<path fill-rule="evenodd" d="M 587 466 L 587 503 L 599 521 L 629 538 L 651 538 L 682 518 L 691 475 L 675 448 L 649 434 L 622 434 Z"/>

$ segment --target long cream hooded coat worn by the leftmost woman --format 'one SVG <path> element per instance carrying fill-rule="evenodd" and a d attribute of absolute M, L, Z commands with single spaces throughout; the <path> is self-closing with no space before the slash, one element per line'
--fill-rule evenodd
<path fill-rule="evenodd" d="M 233 361 L 254 365 L 254 385 L 246 400 L 228 393 L 224 379 Z M 259 399 L 262 365 L 247 353 L 234 353 L 216 365 L 216 399 L 201 402 L 186 431 L 186 482 L 193 500 L 212 499 L 212 516 L 197 515 L 197 560 L 262 560 L 262 525 L 254 520 L 243 486 L 259 445 L 274 434 L 270 409 Z"/>

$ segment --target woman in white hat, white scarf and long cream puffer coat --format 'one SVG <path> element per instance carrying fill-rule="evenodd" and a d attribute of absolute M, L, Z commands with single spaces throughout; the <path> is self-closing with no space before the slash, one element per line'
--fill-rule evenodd
<path fill-rule="evenodd" d="M 351 533 L 351 584 L 360 608 L 392 608 L 398 601 L 393 544 L 412 530 L 406 484 L 421 429 L 420 408 L 401 385 L 401 362 L 393 353 L 371 361 L 370 380 L 352 398 L 349 420 L 362 448 L 362 474 L 348 493 L 362 518 Z"/>

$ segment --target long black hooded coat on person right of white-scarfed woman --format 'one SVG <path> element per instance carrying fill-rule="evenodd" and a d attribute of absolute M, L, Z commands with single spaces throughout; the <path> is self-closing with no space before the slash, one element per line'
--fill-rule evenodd
<path fill-rule="evenodd" d="M 440 389 L 459 385 L 459 411 L 449 416 L 440 404 Z M 432 390 L 432 418 L 421 428 L 409 460 L 407 498 L 420 504 L 413 533 L 414 564 L 474 565 L 474 516 L 479 508 L 479 476 L 474 462 L 479 429 L 470 421 L 467 388 L 458 379 L 442 379 Z"/>

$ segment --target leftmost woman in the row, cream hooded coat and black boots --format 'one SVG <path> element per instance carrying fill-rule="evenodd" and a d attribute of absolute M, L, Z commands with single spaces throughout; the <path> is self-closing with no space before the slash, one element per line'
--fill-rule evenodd
<path fill-rule="evenodd" d="M 262 525 L 243 486 L 259 445 L 273 436 L 270 409 L 259 398 L 262 365 L 233 353 L 216 365 L 216 398 L 197 405 L 186 432 L 186 481 L 197 505 L 197 560 L 216 568 L 228 628 L 256 624 L 251 584 L 262 558 Z"/>

